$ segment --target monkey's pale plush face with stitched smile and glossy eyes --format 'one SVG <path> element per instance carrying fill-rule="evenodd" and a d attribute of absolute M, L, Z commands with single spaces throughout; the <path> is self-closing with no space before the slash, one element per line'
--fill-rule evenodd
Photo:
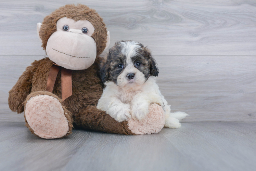
<path fill-rule="evenodd" d="M 57 31 L 50 36 L 46 46 L 50 60 L 67 69 L 89 68 L 97 55 L 96 43 L 91 37 L 93 25 L 87 20 L 76 22 L 63 17 L 56 26 Z"/>

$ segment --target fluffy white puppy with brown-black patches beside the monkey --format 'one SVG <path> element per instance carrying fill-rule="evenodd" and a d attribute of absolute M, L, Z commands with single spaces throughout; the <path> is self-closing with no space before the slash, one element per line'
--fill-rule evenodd
<path fill-rule="evenodd" d="M 141 43 L 116 42 L 102 62 L 100 74 L 106 87 L 97 108 L 118 122 L 130 117 L 143 120 L 151 103 L 163 107 L 167 128 L 180 128 L 179 120 L 187 116 L 184 112 L 170 112 L 170 106 L 156 84 L 156 61 Z"/>

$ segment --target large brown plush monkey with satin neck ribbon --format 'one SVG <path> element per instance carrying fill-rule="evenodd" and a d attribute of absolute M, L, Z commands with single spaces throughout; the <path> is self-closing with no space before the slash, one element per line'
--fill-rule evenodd
<path fill-rule="evenodd" d="M 117 122 L 97 109 L 103 92 L 97 55 L 108 46 L 110 34 L 95 10 L 65 5 L 38 23 L 37 30 L 49 57 L 26 68 L 8 99 L 12 111 L 24 111 L 32 133 L 54 139 L 71 134 L 73 126 L 127 135 L 157 133 L 164 127 L 164 111 L 157 104 L 150 105 L 151 122 L 144 123 Z"/>

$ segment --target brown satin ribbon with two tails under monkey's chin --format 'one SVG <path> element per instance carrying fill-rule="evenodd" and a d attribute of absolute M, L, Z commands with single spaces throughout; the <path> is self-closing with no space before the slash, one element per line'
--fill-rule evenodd
<path fill-rule="evenodd" d="M 72 70 L 63 68 L 57 64 L 52 65 L 49 71 L 46 91 L 52 93 L 57 75 L 61 70 L 61 96 L 64 101 L 67 97 L 72 95 Z"/>

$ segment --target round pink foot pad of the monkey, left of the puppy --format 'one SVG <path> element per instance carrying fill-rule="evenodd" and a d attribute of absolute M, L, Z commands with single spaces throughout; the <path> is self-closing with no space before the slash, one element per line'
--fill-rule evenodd
<path fill-rule="evenodd" d="M 26 104 L 25 116 L 34 133 L 44 139 L 63 137 L 68 132 L 68 121 L 57 98 L 36 95 Z"/>

